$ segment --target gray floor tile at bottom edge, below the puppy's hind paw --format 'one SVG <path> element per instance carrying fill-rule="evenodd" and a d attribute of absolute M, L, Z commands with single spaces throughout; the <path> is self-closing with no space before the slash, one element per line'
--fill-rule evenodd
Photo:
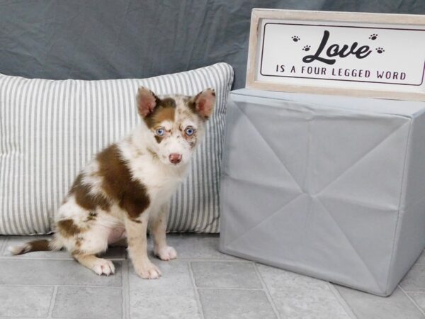
<path fill-rule="evenodd" d="M 52 318 L 123 318 L 123 291 L 113 287 L 58 287 Z"/>

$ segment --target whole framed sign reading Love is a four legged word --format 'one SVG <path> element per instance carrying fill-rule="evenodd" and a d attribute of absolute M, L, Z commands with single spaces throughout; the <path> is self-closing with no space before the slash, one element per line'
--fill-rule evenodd
<path fill-rule="evenodd" d="M 425 101 L 425 16 L 253 9 L 246 87 Z"/>

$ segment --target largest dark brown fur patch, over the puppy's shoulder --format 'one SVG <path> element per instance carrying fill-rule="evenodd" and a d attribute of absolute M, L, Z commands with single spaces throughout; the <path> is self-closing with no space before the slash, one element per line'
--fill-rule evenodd
<path fill-rule="evenodd" d="M 102 188 L 108 197 L 118 202 L 130 218 L 137 218 L 149 206 L 145 185 L 132 179 L 130 169 L 123 161 L 118 146 L 113 144 L 97 155 Z"/>

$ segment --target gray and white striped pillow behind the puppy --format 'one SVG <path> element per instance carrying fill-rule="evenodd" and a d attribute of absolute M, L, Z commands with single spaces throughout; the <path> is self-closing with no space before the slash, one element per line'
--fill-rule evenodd
<path fill-rule="evenodd" d="M 220 162 L 232 67 L 218 63 L 150 79 L 25 79 L 0 74 L 0 233 L 50 233 L 79 170 L 139 123 L 138 86 L 157 94 L 217 94 L 214 116 L 171 201 L 172 232 L 219 231 Z"/>

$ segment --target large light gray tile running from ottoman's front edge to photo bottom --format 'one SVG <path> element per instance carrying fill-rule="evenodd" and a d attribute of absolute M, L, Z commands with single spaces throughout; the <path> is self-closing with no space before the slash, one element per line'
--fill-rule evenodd
<path fill-rule="evenodd" d="M 326 281 L 257 267 L 282 318 L 350 318 Z"/>

